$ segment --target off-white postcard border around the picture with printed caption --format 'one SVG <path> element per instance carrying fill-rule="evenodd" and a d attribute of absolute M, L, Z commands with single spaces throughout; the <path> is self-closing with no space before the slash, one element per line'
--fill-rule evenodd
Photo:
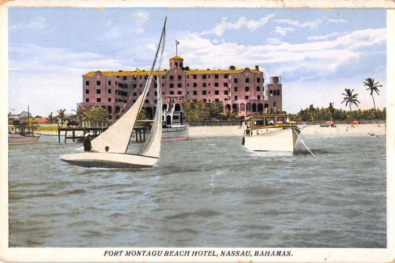
<path fill-rule="evenodd" d="M 0 0 L 0 261 L 12 262 L 393 262 L 395 261 L 395 0 Z M 133 248 L 8 248 L 8 145 L 5 113 L 8 111 L 8 12 L 7 7 L 313 7 L 387 8 L 387 248 L 235 248 L 234 250 L 291 251 L 292 257 L 103 257 L 106 250 L 130 251 Z M 5 234 L 4 234 L 5 233 Z M 232 248 L 136 248 L 136 250 L 222 250 Z"/>

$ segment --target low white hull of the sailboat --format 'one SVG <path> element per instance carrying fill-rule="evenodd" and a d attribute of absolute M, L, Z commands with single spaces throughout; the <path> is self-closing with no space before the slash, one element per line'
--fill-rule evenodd
<path fill-rule="evenodd" d="M 139 169 L 152 167 L 158 158 L 126 154 L 126 153 L 101 153 L 83 152 L 60 155 L 66 163 L 88 168 L 113 168 L 113 169 Z"/>

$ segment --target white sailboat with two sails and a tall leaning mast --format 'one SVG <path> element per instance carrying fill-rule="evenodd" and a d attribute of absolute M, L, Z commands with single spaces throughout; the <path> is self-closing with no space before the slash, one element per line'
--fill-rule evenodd
<path fill-rule="evenodd" d="M 162 98 L 160 95 L 158 96 L 155 118 L 148 138 L 135 154 L 127 153 L 127 148 L 136 124 L 137 115 L 153 81 L 152 72 L 161 46 L 160 67 L 164 49 L 166 20 L 167 17 L 164 20 L 158 49 L 142 94 L 117 122 L 91 141 L 91 151 L 60 155 L 62 161 L 82 167 L 114 169 L 147 168 L 158 162 L 162 135 Z M 159 80 L 159 78 L 157 79 Z M 161 94 L 160 85 L 157 85 L 157 91 L 158 94 Z"/>

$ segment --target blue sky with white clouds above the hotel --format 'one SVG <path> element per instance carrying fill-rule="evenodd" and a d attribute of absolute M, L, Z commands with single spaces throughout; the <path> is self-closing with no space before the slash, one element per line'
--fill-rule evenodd
<path fill-rule="evenodd" d="M 280 76 L 283 110 L 310 104 L 373 108 L 367 78 L 383 85 L 386 107 L 386 11 L 276 8 L 9 8 L 9 111 L 72 113 L 82 102 L 82 75 L 96 70 L 149 69 L 164 17 L 162 69 L 178 54 L 191 69 L 254 68 L 265 84 Z M 356 109 L 354 106 L 353 109 Z"/>

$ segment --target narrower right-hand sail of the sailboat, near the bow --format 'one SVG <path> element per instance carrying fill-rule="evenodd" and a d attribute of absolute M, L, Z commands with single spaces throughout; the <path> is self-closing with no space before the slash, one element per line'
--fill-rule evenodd
<path fill-rule="evenodd" d="M 160 140 L 162 137 L 162 96 L 160 91 L 159 78 L 158 79 L 158 101 L 157 110 L 155 111 L 155 118 L 152 124 L 150 135 L 144 142 L 141 149 L 137 152 L 138 155 L 159 158 Z"/>

